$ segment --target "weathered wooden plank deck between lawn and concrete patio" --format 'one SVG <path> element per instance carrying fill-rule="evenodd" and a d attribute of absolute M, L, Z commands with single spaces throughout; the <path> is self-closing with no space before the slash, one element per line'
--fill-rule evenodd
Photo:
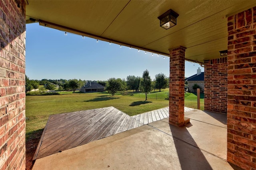
<path fill-rule="evenodd" d="M 191 108 L 185 107 L 184 111 Z M 167 118 L 169 107 L 130 117 L 104 107 L 50 115 L 33 160 Z"/>

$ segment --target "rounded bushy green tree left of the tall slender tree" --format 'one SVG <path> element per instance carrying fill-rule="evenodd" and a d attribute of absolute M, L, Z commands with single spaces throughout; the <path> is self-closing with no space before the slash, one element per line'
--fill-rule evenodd
<path fill-rule="evenodd" d="M 117 92 L 122 91 L 124 88 L 124 83 L 121 78 L 110 78 L 106 84 L 106 91 L 114 96 Z"/>

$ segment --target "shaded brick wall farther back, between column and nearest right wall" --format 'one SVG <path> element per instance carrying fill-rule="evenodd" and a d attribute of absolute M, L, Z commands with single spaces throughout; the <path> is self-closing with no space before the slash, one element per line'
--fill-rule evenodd
<path fill-rule="evenodd" d="M 204 110 L 227 113 L 227 57 L 204 61 Z"/>

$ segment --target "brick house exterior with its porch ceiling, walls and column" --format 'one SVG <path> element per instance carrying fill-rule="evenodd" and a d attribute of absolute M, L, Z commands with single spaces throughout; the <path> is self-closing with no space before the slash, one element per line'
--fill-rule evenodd
<path fill-rule="evenodd" d="M 177 25 L 162 29 L 158 16 L 170 6 L 179 14 Z M 25 169 L 25 39 L 31 22 L 169 56 L 169 123 L 178 127 L 184 124 L 185 59 L 204 64 L 204 108 L 227 114 L 227 161 L 256 169 L 255 1 L 0 0 L 1 170 Z"/>

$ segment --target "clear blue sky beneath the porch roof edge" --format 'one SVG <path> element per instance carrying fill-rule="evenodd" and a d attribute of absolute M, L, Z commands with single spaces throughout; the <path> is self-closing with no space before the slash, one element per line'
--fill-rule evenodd
<path fill-rule="evenodd" d="M 169 76 L 169 58 L 138 49 L 96 41 L 40 26 L 26 24 L 26 75 L 30 80 L 108 80 L 142 76 L 144 70 L 154 80 L 159 73 Z M 196 74 L 197 63 L 185 63 L 185 77 Z"/>

